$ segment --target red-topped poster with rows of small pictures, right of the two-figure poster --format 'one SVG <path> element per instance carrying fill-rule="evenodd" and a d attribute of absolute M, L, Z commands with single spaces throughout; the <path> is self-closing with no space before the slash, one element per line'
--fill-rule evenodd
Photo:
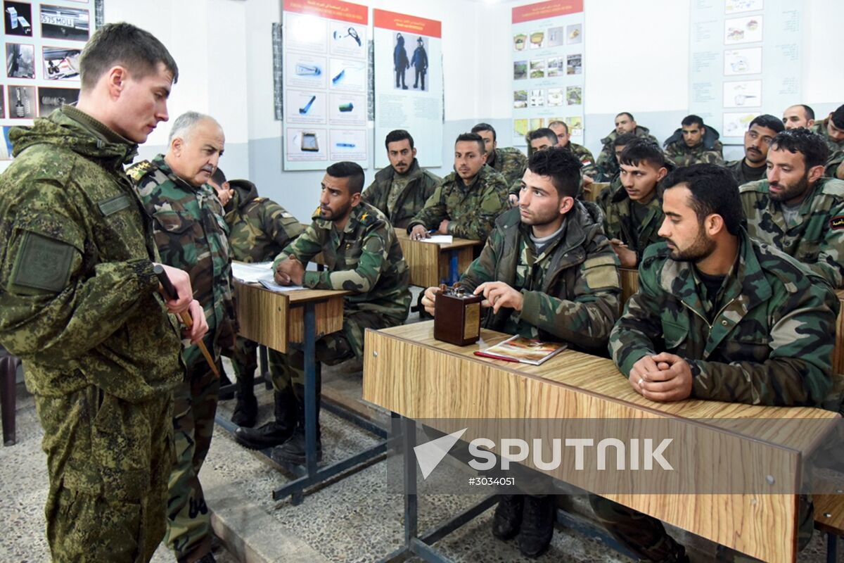
<path fill-rule="evenodd" d="M 572 142 L 582 144 L 583 0 L 518 6 L 511 17 L 512 144 L 526 146 L 527 133 L 558 121 L 569 128 Z"/>

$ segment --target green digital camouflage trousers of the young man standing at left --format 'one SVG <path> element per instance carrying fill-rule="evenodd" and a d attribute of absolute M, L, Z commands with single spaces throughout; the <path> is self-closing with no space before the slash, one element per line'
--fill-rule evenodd
<path fill-rule="evenodd" d="M 170 393 L 127 403 L 90 386 L 62 397 L 36 395 L 35 409 L 50 478 L 52 560 L 152 559 L 165 533 L 173 460 Z"/>

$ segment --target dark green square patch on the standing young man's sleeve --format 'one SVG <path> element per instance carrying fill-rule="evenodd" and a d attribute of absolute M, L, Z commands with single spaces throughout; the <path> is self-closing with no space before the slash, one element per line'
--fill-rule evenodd
<path fill-rule="evenodd" d="M 20 287 L 59 292 L 70 279 L 73 246 L 27 231 L 21 242 L 12 273 Z"/>

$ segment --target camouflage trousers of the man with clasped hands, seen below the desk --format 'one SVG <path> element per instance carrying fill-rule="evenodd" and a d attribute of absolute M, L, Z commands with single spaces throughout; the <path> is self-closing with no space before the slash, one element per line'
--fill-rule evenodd
<path fill-rule="evenodd" d="M 800 495 L 798 499 L 798 549 L 803 549 L 812 539 L 814 505 L 810 496 Z M 684 560 L 685 548 L 668 535 L 663 522 L 657 518 L 605 499 L 603 496 L 589 495 L 589 503 L 604 528 L 607 528 L 607 531 L 619 540 L 620 544 L 630 549 L 641 560 L 665 563 Z M 759 561 L 722 545 L 718 546 L 716 560 L 736 563 Z"/>

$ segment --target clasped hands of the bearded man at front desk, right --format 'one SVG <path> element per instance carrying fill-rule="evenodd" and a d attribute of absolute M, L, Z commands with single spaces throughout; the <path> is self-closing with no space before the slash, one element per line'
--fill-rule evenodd
<path fill-rule="evenodd" d="M 628 381 L 636 392 L 652 401 L 668 403 L 691 396 L 689 362 L 667 352 L 641 358 L 633 364 Z"/>

